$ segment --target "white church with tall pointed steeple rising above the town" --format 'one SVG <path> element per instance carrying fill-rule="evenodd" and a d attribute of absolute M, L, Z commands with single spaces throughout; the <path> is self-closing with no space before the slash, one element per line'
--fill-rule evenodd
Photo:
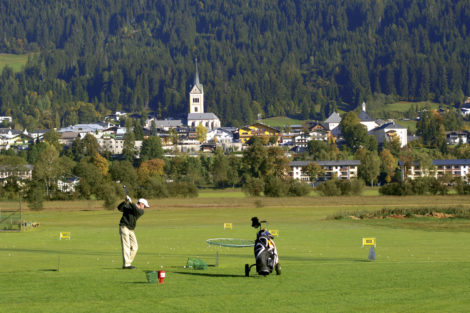
<path fill-rule="evenodd" d="M 208 130 L 212 130 L 220 127 L 220 120 L 214 113 L 204 112 L 204 87 L 199 81 L 196 59 L 194 85 L 189 92 L 189 113 L 187 125 L 191 128 L 195 128 L 201 124 Z"/>

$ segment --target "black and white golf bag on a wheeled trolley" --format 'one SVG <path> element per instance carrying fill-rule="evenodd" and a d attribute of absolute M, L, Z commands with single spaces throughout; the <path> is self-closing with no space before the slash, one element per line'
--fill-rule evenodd
<path fill-rule="evenodd" d="M 251 226 L 259 228 L 256 233 L 255 240 L 255 260 L 256 263 L 249 265 L 245 264 L 245 276 L 250 276 L 250 270 L 256 265 L 256 272 L 259 275 L 267 276 L 272 273 L 273 269 L 277 275 L 281 275 L 281 265 L 277 256 L 276 244 L 274 243 L 273 236 L 269 230 L 262 227 L 262 223 L 268 226 L 267 221 L 259 221 L 257 217 L 251 219 Z"/>

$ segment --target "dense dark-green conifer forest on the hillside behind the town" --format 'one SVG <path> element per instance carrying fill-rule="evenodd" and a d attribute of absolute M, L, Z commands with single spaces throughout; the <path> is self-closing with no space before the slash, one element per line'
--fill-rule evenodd
<path fill-rule="evenodd" d="M 0 75 L 16 128 L 184 116 L 196 58 L 223 125 L 470 95 L 468 0 L 0 0 L 0 29 L 0 53 L 30 54 Z"/>

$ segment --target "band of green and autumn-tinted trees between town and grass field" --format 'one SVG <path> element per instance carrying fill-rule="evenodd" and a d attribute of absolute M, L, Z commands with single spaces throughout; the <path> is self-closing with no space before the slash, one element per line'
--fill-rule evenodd
<path fill-rule="evenodd" d="M 0 187 L 0 198 L 25 197 L 38 208 L 44 200 L 101 199 L 105 206 L 113 208 L 123 196 L 124 185 L 132 196 L 149 198 L 195 197 L 201 187 L 241 187 L 251 196 L 307 195 L 312 191 L 311 185 L 289 176 L 291 160 L 311 161 L 303 171 L 313 184 L 325 181 L 316 186 L 325 196 L 360 194 L 365 184 L 383 185 L 381 192 L 384 194 L 410 194 L 446 193 L 449 190 L 446 186 L 455 183 L 458 192 L 468 193 L 463 181 L 454 182 L 448 177 L 402 182 L 402 168 L 406 171 L 412 164 L 432 172 L 434 159 L 470 158 L 470 144 L 459 143 L 452 147 L 445 144 L 445 124 L 439 112 L 423 110 L 417 125 L 417 132 L 422 134 L 419 140 L 403 148 L 398 138 L 378 145 L 375 137 L 368 135 L 360 124 L 357 114 L 351 111 L 345 114 L 339 126 L 345 134 L 343 142 L 310 141 L 307 150 L 294 154 L 293 158 L 286 156 L 285 147 L 258 137 L 250 138 L 242 153 L 227 154 L 217 149 L 213 154 L 192 156 L 174 150 L 172 157 L 165 157 L 160 138 L 153 135 L 144 138 L 138 119 L 125 121 L 126 127 L 134 131 L 126 133 L 119 158 L 106 151 L 100 152 L 92 134 L 63 146 L 59 143 L 59 133 L 51 130 L 43 141 L 35 141 L 27 150 L 1 151 L 2 168 L 21 170 L 26 164 L 32 164 L 34 170 L 31 181 L 19 183 L 18 177 L 9 177 Z M 135 140 L 142 140 L 140 151 L 134 149 Z M 360 160 L 359 177 L 351 181 L 328 181 L 317 163 L 351 159 Z M 71 177 L 79 178 L 75 190 L 60 190 L 58 180 Z"/>

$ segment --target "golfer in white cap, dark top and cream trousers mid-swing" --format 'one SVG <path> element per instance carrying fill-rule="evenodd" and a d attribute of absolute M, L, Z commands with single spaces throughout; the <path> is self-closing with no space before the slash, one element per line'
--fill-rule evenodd
<path fill-rule="evenodd" d="M 118 210 L 122 212 L 121 221 L 119 222 L 119 234 L 121 234 L 122 268 L 124 269 L 135 268 L 132 266 L 132 261 L 134 261 L 139 246 L 134 229 L 137 220 L 144 214 L 144 208 L 148 207 L 147 200 L 142 198 L 137 201 L 137 204 L 134 204 L 129 196 L 126 196 L 126 201 L 118 206 Z"/>

